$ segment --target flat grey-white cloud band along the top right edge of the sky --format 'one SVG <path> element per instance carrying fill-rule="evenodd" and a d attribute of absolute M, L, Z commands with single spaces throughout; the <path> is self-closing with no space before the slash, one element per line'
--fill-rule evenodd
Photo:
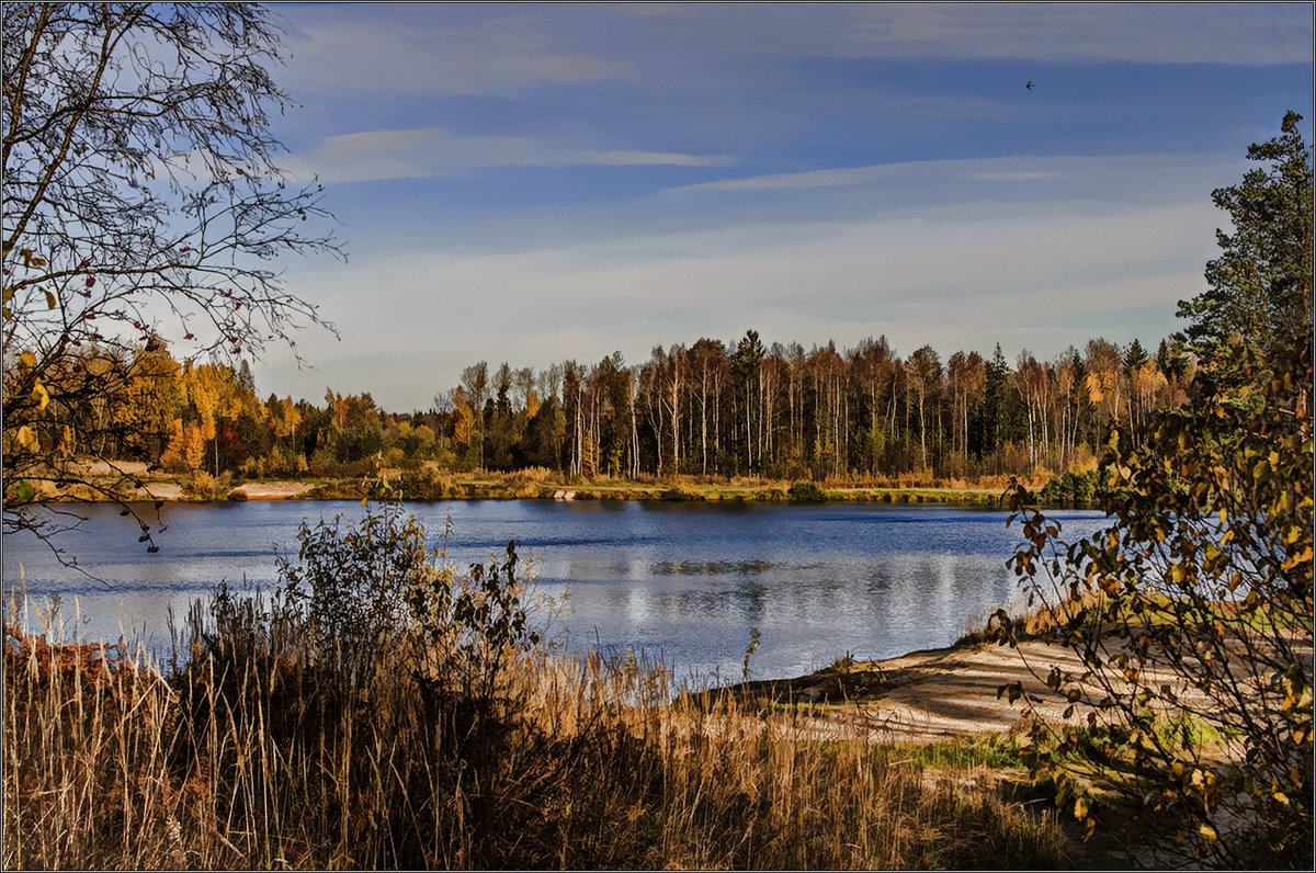
<path fill-rule="evenodd" d="M 755 57 L 1271 65 L 1309 62 L 1312 42 L 1304 3 L 674 4 L 669 12 L 688 17 L 658 33 L 697 28 L 705 50 Z"/>

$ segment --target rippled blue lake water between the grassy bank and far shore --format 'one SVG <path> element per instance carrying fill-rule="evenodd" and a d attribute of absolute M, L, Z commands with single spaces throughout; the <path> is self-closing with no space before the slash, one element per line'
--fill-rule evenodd
<path fill-rule="evenodd" d="M 569 593 L 566 643 L 630 647 L 663 658 L 678 678 L 740 678 L 750 628 L 761 641 L 753 678 L 797 675 L 836 658 L 882 658 L 946 645 L 966 622 L 1009 603 L 1019 583 L 1005 560 L 1020 542 L 1005 512 L 871 504 L 480 500 L 408 507 L 437 544 L 451 517 L 449 557 L 465 566 L 501 554 L 509 539 L 541 593 Z M 170 608 L 220 581 L 272 590 L 276 550 L 295 554 L 303 520 L 361 517 L 357 502 L 170 504 L 168 531 L 147 554 L 132 519 L 93 507 L 62 540 L 105 583 L 62 568 L 33 540 L 4 537 L 5 599 L 20 591 L 62 603 L 66 635 L 121 633 L 167 649 Z M 1059 512 L 1065 537 L 1100 525 L 1099 512 Z M 21 593 L 21 591 L 20 591 Z M 29 629 L 39 631 L 29 614 Z"/>

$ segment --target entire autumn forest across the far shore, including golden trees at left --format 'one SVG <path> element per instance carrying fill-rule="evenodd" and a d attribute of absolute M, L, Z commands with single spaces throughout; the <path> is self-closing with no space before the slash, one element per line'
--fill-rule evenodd
<path fill-rule="evenodd" d="M 180 475 L 354 477 L 371 470 L 542 467 L 574 481 L 767 477 L 973 482 L 1090 470 L 1111 425 L 1137 432 L 1184 403 L 1196 357 L 1167 337 L 1090 340 L 1013 363 L 929 345 L 901 357 L 886 337 L 840 350 L 732 342 L 654 346 L 628 365 L 569 359 L 536 371 L 466 367 L 426 411 L 386 411 L 368 392 L 321 403 L 262 399 L 250 365 L 179 362 L 149 336 L 95 346 L 47 371 L 41 444 Z M 87 403 L 86 398 L 95 398 Z"/>

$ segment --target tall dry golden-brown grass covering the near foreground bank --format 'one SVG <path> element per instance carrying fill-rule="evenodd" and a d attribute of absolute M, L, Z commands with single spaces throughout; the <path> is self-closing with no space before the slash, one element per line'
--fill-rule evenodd
<path fill-rule="evenodd" d="M 5 629 L 13 868 L 1062 866 L 1053 819 L 844 724 L 670 694 L 633 660 L 516 656 L 494 694 L 386 653 L 316 660 L 295 620 L 196 610 L 162 674 Z"/>

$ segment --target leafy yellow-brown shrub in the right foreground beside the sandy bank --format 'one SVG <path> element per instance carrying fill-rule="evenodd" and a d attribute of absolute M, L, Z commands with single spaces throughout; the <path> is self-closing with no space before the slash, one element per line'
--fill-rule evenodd
<path fill-rule="evenodd" d="M 1105 529 L 1067 544 L 1019 489 L 1026 545 L 1013 565 L 1088 665 L 1048 683 L 1088 704 L 1071 714 L 1109 747 L 1129 797 L 1182 816 L 1212 862 L 1309 868 L 1311 349 L 1229 354 L 1228 379 L 1141 441 L 1112 433 Z M 996 639 L 1019 639 L 996 620 Z M 1166 729 L 1187 723 L 1204 729 Z"/>

